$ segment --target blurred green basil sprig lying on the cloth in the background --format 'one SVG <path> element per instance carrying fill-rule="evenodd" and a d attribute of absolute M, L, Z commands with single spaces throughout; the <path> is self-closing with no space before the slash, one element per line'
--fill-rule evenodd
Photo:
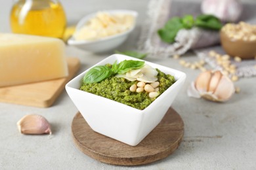
<path fill-rule="evenodd" d="M 222 27 L 219 18 L 213 15 L 202 14 L 194 20 L 192 15 L 186 15 L 182 18 L 173 17 L 158 30 L 161 41 L 167 43 L 175 42 L 175 37 L 180 29 L 191 29 L 192 27 L 202 27 L 203 29 L 219 30 Z"/>

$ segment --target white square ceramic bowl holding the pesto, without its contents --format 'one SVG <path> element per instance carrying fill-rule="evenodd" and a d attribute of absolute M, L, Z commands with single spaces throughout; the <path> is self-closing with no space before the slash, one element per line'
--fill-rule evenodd
<path fill-rule="evenodd" d="M 114 63 L 116 60 L 117 63 L 119 63 L 125 59 L 143 61 L 121 54 L 113 54 L 96 65 Z M 171 103 L 173 103 L 173 100 L 179 93 L 186 75 L 181 71 L 169 67 L 148 61 L 145 61 L 145 63 L 160 69 L 160 71 L 165 74 L 173 75 L 176 82 L 144 110 L 135 109 L 117 101 L 79 90 L 83 76 L 92 67 L 66 84 L 68 95 L 94 131 L 116 139 L 117 141 L 136 146 L 160 123 L 171 106 Z M 96 65 L 93 65 L 93 67 Z"/>

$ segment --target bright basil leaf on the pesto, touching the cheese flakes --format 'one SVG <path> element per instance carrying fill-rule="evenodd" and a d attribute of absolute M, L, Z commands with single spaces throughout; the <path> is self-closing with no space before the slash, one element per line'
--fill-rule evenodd
<path fill-rule="evenodd" d="M 118 74 L 126 73 L 132 69 L 140 69 L 144 66 L 144 61 L 135 61 L 135 60 L 124 60 L 118 64 Z"/>

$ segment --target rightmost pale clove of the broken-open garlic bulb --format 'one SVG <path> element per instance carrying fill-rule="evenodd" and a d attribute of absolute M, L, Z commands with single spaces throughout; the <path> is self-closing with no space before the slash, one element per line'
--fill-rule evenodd
<path fill-rule="evenodd" d="M 227 76 L 222 76 L 219 84 L 214 92 L 220 101 L 227 101 L 235 92 L 233 82 Z"/>

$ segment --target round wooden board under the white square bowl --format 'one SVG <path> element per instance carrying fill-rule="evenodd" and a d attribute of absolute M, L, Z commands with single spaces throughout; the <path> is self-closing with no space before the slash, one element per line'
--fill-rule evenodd
<path fill-rule="evenodd" d="M 173 153 L 182 141 L 184 124 L 170 108 L 160 124 L 137 146 L 129 146 L 96 133 L 78 112 L 72 122 L 74 143 L 87 156 L 114 165 L 142 165 Z"/>

